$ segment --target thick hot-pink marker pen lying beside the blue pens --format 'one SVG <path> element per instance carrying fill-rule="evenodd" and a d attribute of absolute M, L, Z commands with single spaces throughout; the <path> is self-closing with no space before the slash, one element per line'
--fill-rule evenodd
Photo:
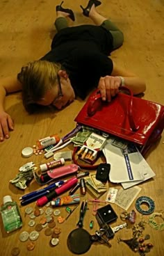
<path fill-rule="evenodd" d="M 47 195 L 44 195 L 42 198 L 39 198 L 36 202 L 36 204 L 40 207 L 47 202 L 51 201 L 53 198 L 56 198 L 56 196 L 60 195 L 61 193 L 64 193 L 65 191 L 69 190 L 78 182 L 78 179 L 76 177 L 73 177 L 69 179 L 65 184 L 61 185 L 54 191 L 48 193 Z"/>

